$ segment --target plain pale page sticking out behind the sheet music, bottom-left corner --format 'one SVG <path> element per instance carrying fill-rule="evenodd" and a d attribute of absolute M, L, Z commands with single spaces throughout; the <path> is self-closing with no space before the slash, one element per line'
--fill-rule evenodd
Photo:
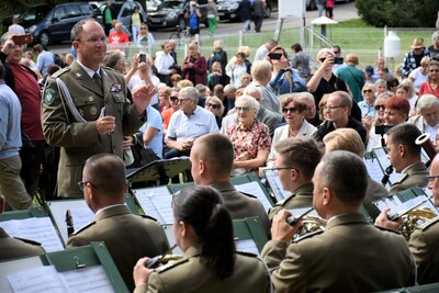
<path fill-rule="evenodd" d="M 20 272 L 25 269 L 43 267 L 40 257 L 30 257 L 0 262 L 0 292 L 12 293 L 13 289 L 7 278 L 8 274 Z"/>

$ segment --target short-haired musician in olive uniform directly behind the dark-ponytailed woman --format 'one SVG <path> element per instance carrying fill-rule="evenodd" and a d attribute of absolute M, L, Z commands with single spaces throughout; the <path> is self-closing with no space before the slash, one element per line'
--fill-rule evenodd
<path fill-rule="evenodd" d="M 219 191 L 233 219 L 258 216 L 269 235 L 270 221 L 261 202 L 254 195 L 236 191 L 230 183 L 234 158 L 232 142 L 226 136 L 206 134 L 196 138 L 190 156 L 193 181 L 198 185 L 211 185 Z"/>

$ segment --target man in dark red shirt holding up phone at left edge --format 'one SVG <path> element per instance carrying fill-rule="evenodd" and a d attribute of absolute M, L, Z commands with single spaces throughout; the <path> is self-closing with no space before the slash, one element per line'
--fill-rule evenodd
<path fill-rule="evenodd" d="M 12 33 L 4 33 L 1 36 L 3 47 L 0 52 L 0 59 L 5 68 L 4 82 L 19 97 L 21 103 L 23 146 L 20 150 L 20 157 L 23 166 L 26 167 L 22 168 L 21 177 L 27 193 L 33 196 L 38 185 L 45 146 L 41 126 L 41 88 L 35 74 L 20 64 L 23 56 L 23 46 L 15 45 L 12 36 Z"/>

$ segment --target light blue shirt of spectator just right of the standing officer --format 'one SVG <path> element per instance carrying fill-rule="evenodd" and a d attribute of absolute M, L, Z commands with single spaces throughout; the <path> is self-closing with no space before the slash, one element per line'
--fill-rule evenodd
<path fill-rule="evenodd" d="M 140 132 L 145 133 L 146 128 L 153 127 L 157 129 L 157 134 L 154 138 L 149 142 L 149 144 L 145 147 L 150 148 L 156 153 L 156 155 L 162 159 L 164 158 L 164 121 L 161 119 L 160 113 L 154 109 L 153 106 L 148 105 L 146 109 L 146 114 L 148 121 L 142 125 L 139 128 Z"/>

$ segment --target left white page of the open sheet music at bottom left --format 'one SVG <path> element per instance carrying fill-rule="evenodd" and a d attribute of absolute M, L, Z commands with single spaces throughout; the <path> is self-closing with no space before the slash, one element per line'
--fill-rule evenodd
<path fill-rule="evenodd" d="M 53 266 L 15 272 L 7 278 L 15 293 L 74 293 Z"/>

